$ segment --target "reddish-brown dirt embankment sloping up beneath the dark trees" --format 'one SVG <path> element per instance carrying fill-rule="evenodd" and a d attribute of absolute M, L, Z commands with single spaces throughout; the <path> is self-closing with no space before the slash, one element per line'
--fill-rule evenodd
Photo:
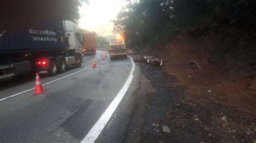
<path fill-rule="evenodd" d="M 213 128 L 217 137 L 227 138 L 226 141 L 255 142 L 255 63 L 251 59 L 236 58 L 250 56 L 250 50 L 254 53 L 255 48 L 236 51 L 251 43 L 242 41 L 236 33 L 221 42 L 217 35 L 210 33 L 193 38 L 183 34 L 165 44 L 151 45 L 140 54 L 165 60 L 164 71 L 178 78 L 179 82 L 174 84 L 184 89 L 184 100 L 207 111 L 203 112 L 207 114 L 207 130 Z M 225 49 L 231 46 L 237 48 Z M 243 54 L 246 50 L 249 53 Z M 191 60 L 201 69 L 188 64 Z"/>

